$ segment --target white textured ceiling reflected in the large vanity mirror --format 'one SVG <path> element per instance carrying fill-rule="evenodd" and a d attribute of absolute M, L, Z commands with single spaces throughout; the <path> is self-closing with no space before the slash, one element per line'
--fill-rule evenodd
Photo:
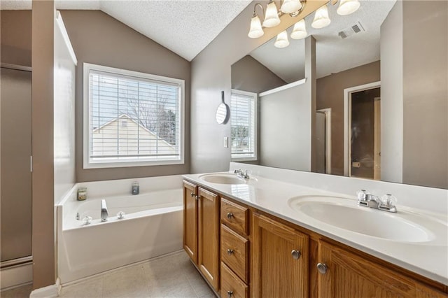
<path fill-rule="evenodd" d="M 323 29 L 314 29 L 314 13 L 305 18 L 309 35 L 316 38 L 317 78 L 379 60 L 379 27 L 395 0 L 360 0 L 360 8 L 351 15 L 337 15 L 337 5 L 328 5 L 331 23 Z M 345 39 L 338 32 L 360 21 L 365 32 Z M 292 28 L 288 29 L 288 37 Z M 289 38 L 286 48 L 275 48 L 275 38 L 251 52 L 251 56 L 265 65 L 287 83 L 304 78 L 304 41 Z M 299 70 L 299 71 L 297 71 Z"/>

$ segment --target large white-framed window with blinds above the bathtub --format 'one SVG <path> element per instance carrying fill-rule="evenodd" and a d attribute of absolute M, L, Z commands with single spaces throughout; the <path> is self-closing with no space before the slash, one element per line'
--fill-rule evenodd
<path fill-rule="evenodd" d="M 84 168 L 183 164 L 184 81 L 84 64 Z"/>

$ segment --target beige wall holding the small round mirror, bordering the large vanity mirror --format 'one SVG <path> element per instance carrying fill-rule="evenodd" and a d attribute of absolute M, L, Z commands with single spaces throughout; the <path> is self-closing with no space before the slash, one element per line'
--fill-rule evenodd
<path fill-rule="evenodd" d="M 283 15 L 281 24 L 265 29 L 261 38 L 247 37 L 253 5 L 249 4 L 191 64 L 191 172 L 226 171 L 230 148 L 223 147 L 223 137 L 230 137 L 230 122 L 218 125 L 215 112 L 221 103 L 221 90 L 230 102 L 231 65 L 258 48 L 299 19 Z M 265 3 L 265 2 L 264 2 Z M 325 1 L 308 1 L 303 16 L 322 6 Z M 238 46 L 235 46 L 238 45 Z"/>

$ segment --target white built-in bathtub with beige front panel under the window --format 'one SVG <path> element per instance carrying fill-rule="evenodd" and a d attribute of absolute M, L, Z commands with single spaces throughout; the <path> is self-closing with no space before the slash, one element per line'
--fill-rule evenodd
<path fill-rule="evenodd" d="M 134 181 L 140 194 L 129 194 Z M 87 200 L 77 201 L 78 187 Z M 167 176 L 75 185 L 57 204 L 57 276 L 62 285 L 182 248 L 182 178 Z M 109 218 L 101 221 L 101 201 Z M 118 219 L 117 213 L 125 213 Z M 79 214 L 79 220 L 77 220 Z M 89 225 L 85 216 L 92 217 Z"/>

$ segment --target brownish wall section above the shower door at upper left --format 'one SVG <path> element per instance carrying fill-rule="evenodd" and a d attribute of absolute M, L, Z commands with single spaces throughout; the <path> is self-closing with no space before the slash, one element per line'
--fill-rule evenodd
<path fill-rule="evenodd" d="M 31 10 L 1 10 L 1 63 L 31 66 Z"/>

